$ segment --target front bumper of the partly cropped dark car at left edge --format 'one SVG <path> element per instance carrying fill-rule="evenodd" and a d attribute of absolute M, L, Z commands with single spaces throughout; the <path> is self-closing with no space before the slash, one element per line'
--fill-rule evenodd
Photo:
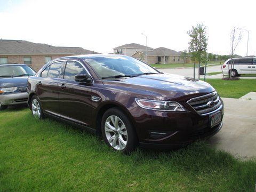
<path fill-rule="evenodd" d="M 12 94 L 0 94 L 0 103 L 2 105 L 18 105 L 22 103 L 27 103 L 28 93 L 12 93 Z"/>

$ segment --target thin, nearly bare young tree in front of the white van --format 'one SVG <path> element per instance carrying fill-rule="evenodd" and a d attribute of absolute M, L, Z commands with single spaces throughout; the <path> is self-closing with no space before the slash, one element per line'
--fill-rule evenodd
<path fill-rule="evenodd" d="M 231 65 L 228 65 L 228 71 L 229 71 L 229 78 L 231 78 L 231 73 L 234 70 L 234 64 L 233 64 L 233 57 L 234 57 L 234 53 L 236 50 L 236 47 L 238 45 L 238 43 L 241 41 L 242 39 L 242 33 L 241 31 L 239 31 L 239 33 L 236 31 L 236 28 L 234 27 L 231 30 L 230 33 L 230 47 L 231 47 Z M 235 73 L 235 72 L 234 72 Z"/>

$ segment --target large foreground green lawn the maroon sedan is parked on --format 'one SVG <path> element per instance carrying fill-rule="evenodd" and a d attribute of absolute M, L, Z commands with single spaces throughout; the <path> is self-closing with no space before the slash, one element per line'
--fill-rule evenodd
<path fill-rule="evenodd" d="M 254 191 L 255 173 L 205 142 L 128 156 L 27 108 L 0 112 L 0 191 Z"/>

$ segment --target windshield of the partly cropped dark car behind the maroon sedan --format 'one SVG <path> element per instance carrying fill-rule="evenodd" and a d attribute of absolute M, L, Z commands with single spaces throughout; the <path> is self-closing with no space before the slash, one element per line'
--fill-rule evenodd
<path fill-rule="evenodd" d="M 28 66 L 0 66 L 0 78 L 30 76 L 35 74 L 35 71 Z"/>

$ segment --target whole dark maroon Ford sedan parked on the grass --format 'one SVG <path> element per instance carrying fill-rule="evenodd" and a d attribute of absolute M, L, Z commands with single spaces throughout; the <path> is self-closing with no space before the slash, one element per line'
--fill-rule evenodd
<path fill-rule="evenodd" d="M 223 102 L 211 85 L 123 55 L 55 59 L 29 77 L 28 90 L 35 117 L 84 127 L 124 153 L 180 147 L 222 127 Z"/>

